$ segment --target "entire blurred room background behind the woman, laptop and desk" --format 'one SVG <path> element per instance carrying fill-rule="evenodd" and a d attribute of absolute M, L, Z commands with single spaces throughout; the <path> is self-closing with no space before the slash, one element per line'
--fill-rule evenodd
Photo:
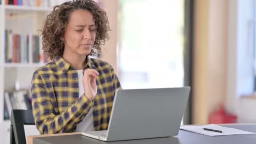
<path fill-rule="evenodd" d="M 48 62 L 39 29 L 67 0 L 0 0 L 0 142 L 11 109 L 31 109 L 32 73 Z M 123 89 L 191 86 L 183 124 L 256 123 L 256 0 L 96 0 L 110 40 L 95 56 Z"/>

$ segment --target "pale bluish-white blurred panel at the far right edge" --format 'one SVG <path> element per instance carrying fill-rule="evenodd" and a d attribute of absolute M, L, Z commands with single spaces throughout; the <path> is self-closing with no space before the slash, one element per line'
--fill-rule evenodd
<path fill-rule="evenodd" d="M 238 1 L 237 97 L 253 93 L 253 1 Z"/>

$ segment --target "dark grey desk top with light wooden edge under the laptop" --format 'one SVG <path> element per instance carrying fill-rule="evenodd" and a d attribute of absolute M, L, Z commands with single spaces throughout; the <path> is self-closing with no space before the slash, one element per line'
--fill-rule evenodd
<path fill-rule="evenodd" d="M 256 133 L 256 124 L 233 124 L 222 126 Z M 80 133 L 70 133 L 64 136 L 61 134 L 53 134 L 51 136 L 42 135 L 40 137 L 28 136 L 28 139 L 30 139 L 30 141 L 28 141 L 29 144 L 256 144 L 256 134 L 206 136 L 184 130 L 180 130 L 178 136 L 131 141 L 105 142 L 88 138 Z"/>

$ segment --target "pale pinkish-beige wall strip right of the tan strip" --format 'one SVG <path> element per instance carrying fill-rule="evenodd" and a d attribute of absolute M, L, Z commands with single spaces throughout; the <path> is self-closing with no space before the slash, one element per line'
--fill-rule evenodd
<path fill-rule="evenodd" d="M 227 77 L 227 0 L 210 1 L 208 112 L 224 105 Z"/>

